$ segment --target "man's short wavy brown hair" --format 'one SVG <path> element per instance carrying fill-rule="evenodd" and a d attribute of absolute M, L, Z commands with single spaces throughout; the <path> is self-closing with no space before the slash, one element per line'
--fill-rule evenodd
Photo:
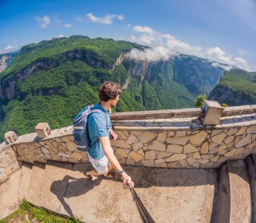
<path fill-rule="evenodd" d="M 100 87 L 100 99 L 102 101 L 108 101 L 109 99 L 114 99 L 117 95 L 121 95 L 122 90 L 118 83 L 105 82 Z"/>

